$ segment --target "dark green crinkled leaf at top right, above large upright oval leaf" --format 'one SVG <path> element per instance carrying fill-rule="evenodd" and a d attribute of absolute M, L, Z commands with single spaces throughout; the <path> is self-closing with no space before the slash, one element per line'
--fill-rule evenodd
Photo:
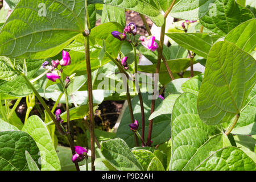
<path fill-rule="evenodd" d="M 200 19 L 200 23 L 210 31 L 225 36 L 233 28 L 254 18 L 250 10 L 238 5 L 234 0 L 217 0 L 212 11 Z"/>

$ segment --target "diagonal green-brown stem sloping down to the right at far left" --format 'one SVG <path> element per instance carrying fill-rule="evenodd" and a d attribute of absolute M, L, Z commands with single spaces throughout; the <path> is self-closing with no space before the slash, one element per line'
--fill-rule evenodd
<path fill-rule="evenodd" d="M 57 130 L 59 131 L 59 133 L 61 135 L 65 135 L 65 131 L 63 130 L 63 128 L 60 126 L 60 123 L 56 121 L 55 116 L 52 114 L 51 110 L 49 109 L 49 107 L 47 106 L 46 102 L 44 102 L 43 98 L 40 96 L 40 94 L 38 93 L 38 91 L 35 89 L 34 85 L 31 84 L 31 82 L 28 80 L 28 78 L 24 75 L 24 73 L 20 72 L 18 69 L 15 69 L 16 72 L 18 72 L 26 81 L 26 84 L 32 89 L 32 91 L 34 92 L 35 96 L 38 98 L 39 102 L 41 102 L 41 104 L 43 105 L 44 109 L 46 110 L 46 112 L 49 114 L 49 117 L 51 117 L 52 121 L 55 123 Z"/>

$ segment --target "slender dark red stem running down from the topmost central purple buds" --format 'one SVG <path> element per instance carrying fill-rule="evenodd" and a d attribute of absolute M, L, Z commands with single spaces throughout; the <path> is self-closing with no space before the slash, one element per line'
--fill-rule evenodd
<path fill-rule="evenodd" d="M 136 48 L 134 46 L 133 43 L 131 43 L 131 46 L 133 46 L 133 51 L 134 51 L 134 70 L 135 70 L 135 85 L 136 85 L 136 88 L 137 88 L 137 91 L 138 91 L 138 96 L 139 96 L 139 104 L 141 105 L 141 127 L 142 127 L 142 130 L 141 130 L 141 135 L 142 135 L 142 140 L 144 142 L 144 133 L 145 133 L 145 114 L 144 114 L 144 105 L 143 105 L 143 100 L 142 100 L 142 95 L 141 95 L 141 89 L 139 88 L 139 80 L 137 80 L 137 53 L 136 53 Z M 145 143 L 143 143 L 143 146 Z"/>

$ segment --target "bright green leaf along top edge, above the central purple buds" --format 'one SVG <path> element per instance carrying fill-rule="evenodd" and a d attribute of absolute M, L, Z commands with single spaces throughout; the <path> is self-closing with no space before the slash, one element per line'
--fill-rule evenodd
<path fill-rule="evenodd" d="M 101 3 L 105 5 L 117 6 L 123 9 L 128 9 L 132 11 L 137 11 L 143 15 L 148 16 L 155 23 L 156 26 L 161 27 L 164 23 L 164 17 L 160 14 L 160 11 L 154 6 L 151 6 L 149 3 L 144 1 L 116 1 L 116 0 L 89 0 L 88 4 Z"/>

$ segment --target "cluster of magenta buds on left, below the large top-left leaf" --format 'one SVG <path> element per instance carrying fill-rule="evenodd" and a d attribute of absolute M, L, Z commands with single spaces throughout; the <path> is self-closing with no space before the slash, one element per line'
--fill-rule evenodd
<path fill-rule="evenodd" d="M 48 61 L 44 61 L 42 64 L 44 69 L 48 69 L 49 73 L 46 73 L 46 77 L 51 81 L 56 81 L 60 78 L 59 72 L 56 69 L 58 65 L 61 65 L 61 67 L 65 67 L 69 64 L 71 64 L 71 57 L 69 56 L 69 53 L 67 51 L 63 51 L 63 59 L 62 60 L 52 60 L 52 65 L 48 65 Z M 61 69 L 62 70 L 62 69 Z"/>

